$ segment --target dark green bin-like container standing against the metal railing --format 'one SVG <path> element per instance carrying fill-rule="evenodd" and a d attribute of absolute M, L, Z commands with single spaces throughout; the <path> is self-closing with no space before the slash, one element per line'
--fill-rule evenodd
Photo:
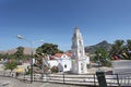
<path fill-rule="evenodd" d="M 96 76 L 98 79 L 99 87 L 107 87 L 106 78 L 105 78 L 105 72 L 102 70 L 96 71 Z"/>

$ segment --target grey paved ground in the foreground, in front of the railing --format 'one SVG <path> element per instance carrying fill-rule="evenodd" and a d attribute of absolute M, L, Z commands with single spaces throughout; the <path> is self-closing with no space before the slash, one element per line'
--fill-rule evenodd
<path fill-rule="evenodd" d="M 38 82 L 34 82 L 33 84 L 29 84 L 29 83 L 21 82 L 15 78 L 0 76 L 0 87 L 85 87 L 85 86 L 38 83 Z"/>

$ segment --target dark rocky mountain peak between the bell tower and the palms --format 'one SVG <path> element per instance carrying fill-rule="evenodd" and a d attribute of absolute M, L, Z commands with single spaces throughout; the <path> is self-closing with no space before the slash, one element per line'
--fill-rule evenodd
<path fill-rule="evenodd" d="M 109 51 L 111 49 L 111 44 L 108 44 L 106 40 L 104 40 L 97 45 L 85 47 L 85 52 L 92 54 L 97 48 L 105 48 L 107 51 Z"/>

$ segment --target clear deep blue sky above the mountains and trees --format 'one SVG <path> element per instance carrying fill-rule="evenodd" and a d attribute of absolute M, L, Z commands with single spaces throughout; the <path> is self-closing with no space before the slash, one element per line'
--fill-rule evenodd
<path fill-rule="evenodd" d="M 131 0 L 0 0 L 0 50 L 29 47 L 16 38 L 71 48 L 79 26 L 85 46 L 131 38 Z"/>

